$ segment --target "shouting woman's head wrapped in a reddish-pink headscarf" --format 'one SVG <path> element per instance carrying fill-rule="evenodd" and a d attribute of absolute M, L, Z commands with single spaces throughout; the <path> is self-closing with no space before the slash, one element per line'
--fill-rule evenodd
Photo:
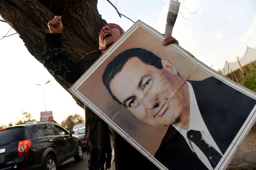
<path fill-rule="evenodd" d="M 99 45 L 103 48 L 110 47 L 114 42 L 116 42 L 119 37 L 121 37 L 121 32 L 115 25 L 105 26 L 99 36 Z"/>

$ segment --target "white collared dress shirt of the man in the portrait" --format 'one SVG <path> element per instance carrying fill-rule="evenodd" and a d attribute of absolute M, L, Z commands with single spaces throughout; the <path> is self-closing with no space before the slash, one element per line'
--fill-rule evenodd
<path fill-rule="evenodd" d="M 222 156 L 223 154 L 221 153 L 219 147 L 215 143 L 214 139 L 212 138 L 209 130 L 207 129 L 204 120 L 201 116 L 201 113 L 199 111 L 197 102 L 196 102 L 196 97 L 194 94 L 194 90 L 192 85 L 187 82 L 188 88 L 189 88 L 189 96 L 190 96 L 190 120 L 189 120 L 189 129 L 183 129 L 179 128 L 173 125 L 174 128 L 176 128 L 180 134 L 185 138 L 186 142 L 188 143 L 190 149 L 196 153 L 198 158 L 203 162 L 203 164 L 209 169 L 213 170 L 213 167 L 211 166 L 209 160 L 205 156 L 205 154 L 195 145 L 194 142 L 192 142 L 190 139 L 187 138 L 187 131 L 188 130 L 198 130 L 201 131 L 202 133 L 202 138 L 204 141 L 211 145 L 214 149 L 216 149 Z M 215 167 L 214 167 L 215 168 Z"/>

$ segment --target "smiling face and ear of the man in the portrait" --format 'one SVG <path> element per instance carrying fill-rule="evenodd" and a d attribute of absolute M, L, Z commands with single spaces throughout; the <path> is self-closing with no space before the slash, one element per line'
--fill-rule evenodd
<path fill-rule="evenodd" d="M 185 81 L 177 75 L 169 59 L 161 60 L 163 69 L 132 57 L 110 83 L 113 95 L 138 119 L 154 126 L 177 123 L 185 108 Z M 179 118 L 179 119 L 178 119 Z"/>

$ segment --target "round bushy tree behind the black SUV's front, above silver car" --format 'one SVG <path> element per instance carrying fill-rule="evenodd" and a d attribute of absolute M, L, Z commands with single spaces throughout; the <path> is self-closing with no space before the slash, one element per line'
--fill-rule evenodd
<path fill-rule="evenodd" d="M 75 113 L 73 115 L 69 115 L 66 119 L 64 119 L 61 122 L 60 125 L 66 128 L 67 130 L 71 130 L 75 124 L 79 123 L 85 123 L 85 120 L 81 115 Z"/>

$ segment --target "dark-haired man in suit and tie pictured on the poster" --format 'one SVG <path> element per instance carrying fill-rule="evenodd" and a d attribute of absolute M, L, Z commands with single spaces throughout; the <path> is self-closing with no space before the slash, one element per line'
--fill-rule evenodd
<path fill-rule="evenodd" d="M 193 158 L 189 161 L 193 164 L 185 165 L 188 169 L 214 169 L 256 103 L 214 77 L 185 81 L 168 58 L 161 59 L 142 48 L 127 49 L 114 57 L 102 81 L 113 100 L 139 120 L 153 126 L 172 125 L 169 131 L 183 137 L 175 149 L 179 153 L 187 143 L 186 154 L 182 157 L 177 159 L 177 153 L 172 156 L 174 149 L 168 150 L 169 154 L 166 153 L 168 147 L 161 149 L 177 142 L 178 136 L 173 137 L 172 142 L 163 143 L 156 152 L 155 157 L 159 157 L 160 162 L 165 161 L 163 164 L 168 168 L 179 168 Z M 228 96 L 212 98 L 212 94 L 204 91 L 205 87 L 214 95 L 225 92 Z M 223 105 L 224 101 L 228 102 Z M 230 112 L 225 109 L 228 103 L 237 107 Z M 224 127 L 220 128 L 222 125 Z M 182 147 L 177 148 L 181 143 Z M 168 162 L 171 163 L 167 165 Z"/>

